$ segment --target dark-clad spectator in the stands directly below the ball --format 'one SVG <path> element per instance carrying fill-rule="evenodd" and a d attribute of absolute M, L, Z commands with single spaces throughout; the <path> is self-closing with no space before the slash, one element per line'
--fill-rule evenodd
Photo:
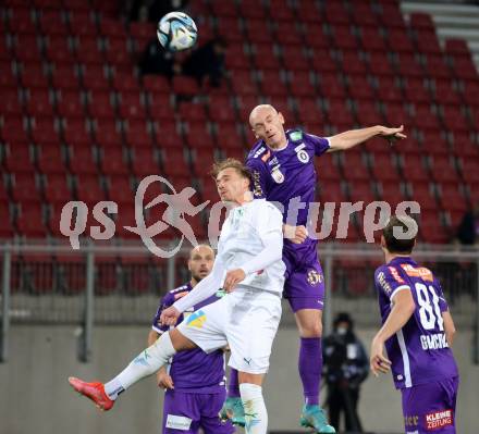
<path fill-rule="evenodd" d="M 138 66 L 142 75 L 158 74 L 164 75 L 169 79 L 182 73 L 182 65 L 175 59 L 175 54 L 164 50 L 157 37 L 147 45 Z"/>

